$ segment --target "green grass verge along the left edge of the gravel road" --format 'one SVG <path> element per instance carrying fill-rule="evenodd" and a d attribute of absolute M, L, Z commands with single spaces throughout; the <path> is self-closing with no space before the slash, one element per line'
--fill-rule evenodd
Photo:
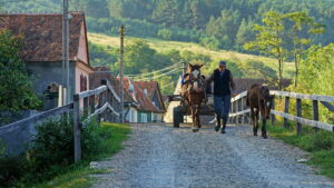
<path fill-rule="evenodd" d="M 55 177 L 52 180 L 48 180 L 35 185 L 18 184 L 19 187 L 31 187 L 31 188 L 88 188 L 92 186 L 96 178 L 91 175 L 108 172 L 108 169 L 91 169 L 89 167 L 90 161 L 100 160 L 106 157 L 111 157 L 122 147 L 122 142 L 129 138 L 130 126 L 120 123 L 101 123 L 102 132 L 111 132 L 111 137 L 104 140 L 102 150 L 95 156 L 89 156 L 85 160 L 75 164 L 70 167 L 62 167 L 60 176 Z"/>

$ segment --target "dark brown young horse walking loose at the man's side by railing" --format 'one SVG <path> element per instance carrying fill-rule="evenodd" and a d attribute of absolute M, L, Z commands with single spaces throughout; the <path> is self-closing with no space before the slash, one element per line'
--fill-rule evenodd
<path fill-rule="evenodd" d="M 262 115 L 262 137 L 267 138 L 266 119 L 269 119 L 273 107 L 274 96 L 269 95 L 269 89 L 265 86 L 253 85 L 247 91 L 246 105 L 250 108 L 252 123 L 254 136 L 257 136 L 258 112 Z M 256 108 L 256 110 L 255 110 Z"/>

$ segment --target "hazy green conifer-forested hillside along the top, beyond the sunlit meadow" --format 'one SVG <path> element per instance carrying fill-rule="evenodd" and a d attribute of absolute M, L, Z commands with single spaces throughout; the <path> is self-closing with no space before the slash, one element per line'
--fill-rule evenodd
<path fill-rule="evenodd" d="M 252 26 L 264 13 L 305 11 L 317 22 L 334 24 L 332 0 L 70 0 L 71 10 L 84 10 L 88 29 L 117 34 L 193 41 L 210 49 L 234 49 L 254 38 Z M 61 11 L 60 0 L 18 0 L 0 4 L 8 11 Z M 111 30 L 110 30 L 111 28 Z M 314 43 L 334 41 L 334 28 L 314 36 Z"/>

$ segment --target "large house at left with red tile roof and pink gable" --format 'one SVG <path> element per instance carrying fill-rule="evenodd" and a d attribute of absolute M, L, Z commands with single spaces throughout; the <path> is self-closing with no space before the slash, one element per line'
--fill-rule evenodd
<path fill-rule="evenodd" d="M 70 90 L 73 93 L 89 88 L 87 28 L 84 13 L 70 13 L 69 21 Z M 22 60 L 32 76 L 35 91 L 43 95 L 52 86 L 66 86 L 62 75 L 62 14 L 0 14 L 0 29 L 9 29 L 23 38 Z M 57 102 L 45 103 L 45 109 Z"/>

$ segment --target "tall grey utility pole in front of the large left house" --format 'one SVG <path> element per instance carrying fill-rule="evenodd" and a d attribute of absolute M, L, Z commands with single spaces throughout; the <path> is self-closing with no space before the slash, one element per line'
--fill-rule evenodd
<path fill-rule="evenodd" d="M 69 83 L 69 13 L 68 0 L 62 4 L 62 85 L 66 85 L 66 102 L 70 102 L 71 88 Z"/>

